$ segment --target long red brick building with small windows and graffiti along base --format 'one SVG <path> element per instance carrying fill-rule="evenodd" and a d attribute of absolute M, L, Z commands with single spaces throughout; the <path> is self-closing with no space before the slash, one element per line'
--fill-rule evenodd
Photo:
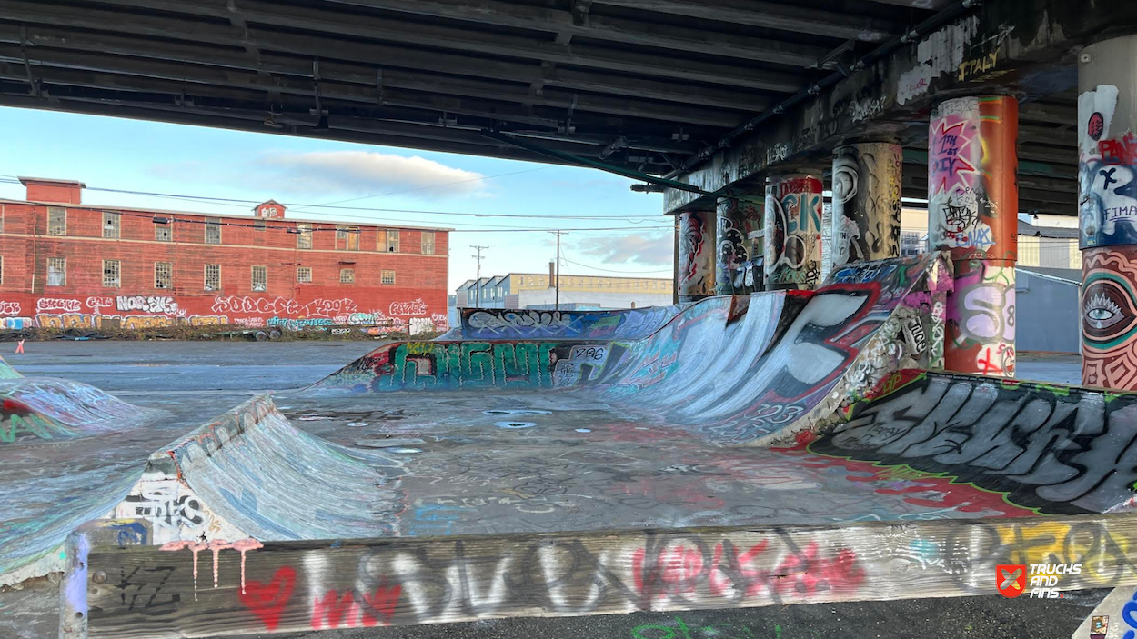
<path fill-rule="evenodd" d="M 22 177 L 0 199 L 0 325 L 445 330 L 448 230 L 82 204 Z"/>

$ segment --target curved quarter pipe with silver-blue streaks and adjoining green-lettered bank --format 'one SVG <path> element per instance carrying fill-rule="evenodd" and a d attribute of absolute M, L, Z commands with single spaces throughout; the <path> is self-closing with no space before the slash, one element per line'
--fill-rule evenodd
<path fill-rule="evenodd" d="M 862 263 L 816 292 L 702 300 L 642 340 L 393 342 L 310 390 L 576 389 L 722 442 L 770 443 L 894 371 L 938 366 L 949 285 L 936 254 Z"/>

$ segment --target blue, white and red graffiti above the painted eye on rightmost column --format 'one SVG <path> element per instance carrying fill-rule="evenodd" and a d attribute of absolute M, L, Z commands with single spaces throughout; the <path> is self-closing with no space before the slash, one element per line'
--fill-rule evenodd
<path fill-rule="evenodd" d="M 1081 248 L 1137 243 L 1137 139 L 1111 130 L 1118 88 L 1078 97 Z"/>

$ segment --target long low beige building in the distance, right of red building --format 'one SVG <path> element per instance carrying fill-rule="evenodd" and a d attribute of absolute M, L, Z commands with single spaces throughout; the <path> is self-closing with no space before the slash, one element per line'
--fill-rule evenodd
<path fill-rule="evenodd" d="M 642 308 L 672 304 L 673 284 L 664 277 L 561 275 L 563 310 Z M 509 273 L 467 280 L 455 291 L 456 308 L 554 308 L 556 290 L 548 273 Z"/>

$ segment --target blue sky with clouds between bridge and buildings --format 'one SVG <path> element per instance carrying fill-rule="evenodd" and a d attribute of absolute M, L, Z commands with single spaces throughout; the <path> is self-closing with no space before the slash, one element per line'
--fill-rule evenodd
<path fill-rule="evenodd" d="M 483 231 L 450 235 L 450 291 L 474 276 L 471 244 L 489 247 L 482 251 L 482 275 L 548 269 L 553 234 L 495 227 L 619 227 L 564 235 L 562 258 L 571 262 L 562 263 L 562 273 L 671 276 L 671 218 L 662 215 L 662 196 L 634 193 L 631 181 L 596 169 L 5 107 L 0 135 L 8 150 L 0 174 L 80 180 L 89 186 L 84 204 L 251 214 L 251 206 L 243 204 L 90 190 L 97 186 L 297 205 L 545 216 L 475 218 L 290 207 L 289 215 L 313 219 Z M 24 186 L 0 183 L 0 197 L 24 196 Z"/>

